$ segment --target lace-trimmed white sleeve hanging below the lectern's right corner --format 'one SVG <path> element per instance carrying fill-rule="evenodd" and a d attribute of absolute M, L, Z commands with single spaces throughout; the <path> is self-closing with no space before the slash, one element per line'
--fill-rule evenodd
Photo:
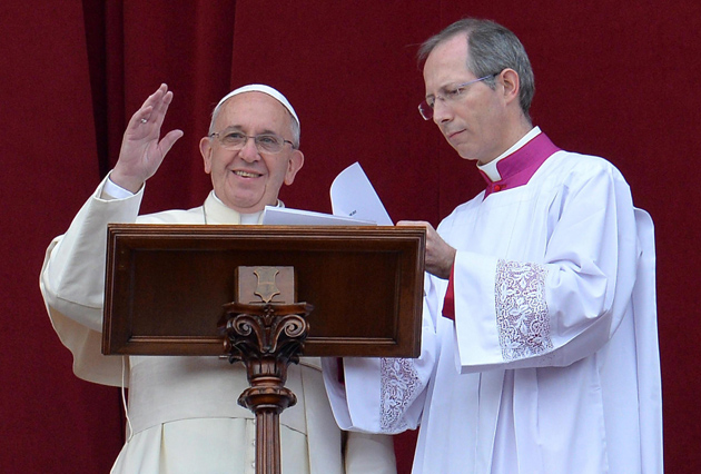
<path fill-rule="evenodd" d="M 431 279 L 425 282 L 430 292 Z M 326 392 L 342 429 L 395 434 L 418 426 L 438 347 L 428 300 L 424 298 L 418 358 L 346 357 L 343 381 L 337 359 L 323 361 Z"/>

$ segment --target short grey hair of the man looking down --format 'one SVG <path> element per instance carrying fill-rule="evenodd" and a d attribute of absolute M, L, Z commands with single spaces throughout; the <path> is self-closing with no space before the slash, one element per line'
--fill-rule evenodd
<path fill-rule="evenodd" d="M 497 75 L 506 68 L 519 75 L 521 89 L 519 103 L 526 119 L 531 120 L 529 110 L 535 93 L 535 80 L 531 61 L 516 36 L 509 29 L 491 20 L 464 18 L 428 38 L 418 49 L 418 61 L 424 62 L 428 55 L 441 43 L 458 34 L 467 37 L 467 69 L 475 77 Z M 494 78 L 484 81 L 495 88 Z"/>

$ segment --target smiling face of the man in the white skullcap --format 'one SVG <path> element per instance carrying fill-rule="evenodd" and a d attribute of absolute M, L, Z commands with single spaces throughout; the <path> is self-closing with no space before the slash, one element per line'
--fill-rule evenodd
<path fill-rule="evenodd" d="M 293 140 L 292 116 L 273 97 L 244 92 L 228 99 L 216 118 L 215 130 L 234 129 L 249 137 L 274 134 Z M 204 137 L 199 144 L 205 172 L 211 175 L 216 196 L 243 214 L 274 206 L 283 184 L 292 185 L 304 165 L 304 155 L 289 144 L 277 154 L 258 152 L 249 139 L 240 150 L 228 150 L 216 138 Z"/>

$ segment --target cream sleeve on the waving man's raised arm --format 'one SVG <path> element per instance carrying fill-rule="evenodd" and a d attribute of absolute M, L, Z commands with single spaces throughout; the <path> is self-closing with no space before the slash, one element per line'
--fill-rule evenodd
<path fill-rule="evenodd" d="M 39 286 L 55 330 L 73 354 L 73 373 L 89 382 L 120 386 L 121 357 L 101 354 L 107 224 L 134 223 L 144 194 L 103 199 L 103 185 L 68 231 L 49 245 Z"/>

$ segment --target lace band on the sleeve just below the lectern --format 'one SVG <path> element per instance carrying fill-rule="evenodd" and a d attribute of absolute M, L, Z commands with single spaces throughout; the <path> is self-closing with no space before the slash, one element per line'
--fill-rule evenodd
<path fill-rule="evenodd" d="M 381 384 L 381 427 L 385 433 L 398 433 L 405 431 L 408 425 L 404 421 L 404 413 L 408 405 L 416 398 L 421 389 L 418 374 L 411 359 L 382 358 Z"/>

